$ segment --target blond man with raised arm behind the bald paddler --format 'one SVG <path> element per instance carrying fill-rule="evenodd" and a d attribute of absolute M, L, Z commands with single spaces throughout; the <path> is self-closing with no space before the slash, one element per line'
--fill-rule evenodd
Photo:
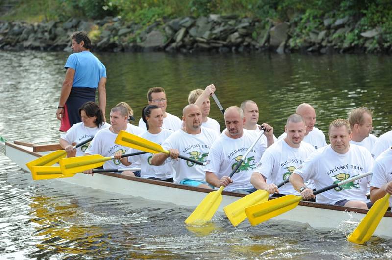
<path fill-rule="evenodd" d="M 202 125 L 204 128 L 208 127 L 217 131 L 218 134 L 221 134 L 221 126 L 219 125 L 218 121 L 208 117 L 211 108 L 210 96 L 214 94 L 214 92 L 214 84 L 208 85 L 204 90 L 192 90 L 188 95 L 188 103 L 196 104 L 201 109 L 201 117 L 203 120 Z"/>

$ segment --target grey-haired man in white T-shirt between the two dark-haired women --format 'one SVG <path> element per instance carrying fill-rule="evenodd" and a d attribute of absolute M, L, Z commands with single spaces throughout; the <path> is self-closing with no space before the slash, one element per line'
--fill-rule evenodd
<path fill-rule="evenodd" d="M 110 124 L 110 127 L 98 131 L 84 155 L 100 154 L 104 157 L 111 157 L 118 152 L 124 154 L 129 148 L 115 143 L 118 133 L 121 130 L 135 135 L 140 135 L 144 132 L 144 130 L 140 127 L 128 123 L 128 110 L 124 106 L 117 106 L 112 108 L 110 111 Z M 135 164 L 133 164 L 133 166 L 135 166 Z M 114 168 L 126 168 L 126 166 L 123 165 L 119 159 L 112 159 L 110 161 L 106 161 L 103 164 L 103 169 Z M 84 171 L 84 173 L 93 174 L 93 171 L 90 169 Z M 138 171 L 138 173 L 124 171 L 121 174 L 128 176 L 136 175 L 140 177 L 140 171 Z"/>

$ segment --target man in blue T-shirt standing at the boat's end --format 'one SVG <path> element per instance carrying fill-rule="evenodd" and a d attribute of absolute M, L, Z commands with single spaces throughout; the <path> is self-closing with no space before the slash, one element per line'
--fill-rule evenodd
<path fill-rule="evenodd" d="M 61 87 L 56 116 L 61 120 L 60 131 L 67 131 L 81 122 L 79 108 L 88 101 L 95 101 L 98 88 L 99 108 L 105 117 L 106 68 L 91 52 L 91 41 L 86 32 L 71 36 L 71 54 L 64 68 L 67 70 Z"/>

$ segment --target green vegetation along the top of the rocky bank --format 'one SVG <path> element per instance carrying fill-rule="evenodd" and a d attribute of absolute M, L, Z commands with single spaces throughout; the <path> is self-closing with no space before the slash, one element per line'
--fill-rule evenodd
<path fill-rule="evenodd" d="M 24 0 L 0 19 L 41 22 L 119 16 L 123 21 L 148 26 L 165 19 L 208 14 L 258 17 L 261 24 L 290 22 L 295 28 L 288 43 L 292 48 L 303 46 L 312 32 L 324 30 L 325 19 L 344 17 L 349 18 L 351 29 L 333 35 L 341 47 L 364 43 L 360 33 L 371 29 L 377 29 L 382 37 L 368 41 L 369 49 L 387 48 L 392 43 L 391 0 Z"/>

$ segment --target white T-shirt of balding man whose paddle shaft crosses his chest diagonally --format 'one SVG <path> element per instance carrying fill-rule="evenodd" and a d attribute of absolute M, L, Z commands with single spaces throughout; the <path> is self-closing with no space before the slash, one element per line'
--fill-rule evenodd
<path fill-rule="evenodd" d="M 219 179 L 223 176 L 229 176 L 257 136 L 258 134 L 255 131 L 246 129 L 244 129 L 243 136 L 238 139 L 221 134 L 211 146 L 204 171 L 214 173 Z M 237 172 L 231 177 L 233 183 L 226 186 L 224 190 L 234 191 L 253 188 L 250 183 L 250 176 L 265 150 L 266 144 L 258 142 L 249 152 Z"/>

